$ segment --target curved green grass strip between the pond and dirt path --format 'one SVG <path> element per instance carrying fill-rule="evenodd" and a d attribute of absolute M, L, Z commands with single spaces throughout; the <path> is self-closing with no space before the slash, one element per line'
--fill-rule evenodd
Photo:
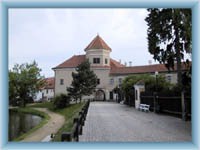
<path fill-rule="evenodd" d="M 49 115 L 47 115 L 46 113 L 38 111 L 38 110 L 35 110 L 35 109 L 31 109 L 31 108 L 13 108 L 12 111 L 21 112 L 21 113 L 28 113 L 28 114 L 33 114 L 33 115 L 37 115 L 37 116 L 42 117 L 42 121 L 37 126 L 35 126 L 34 128 L 30 129 L 28 132 L 20 135 L 19 137 L 15 138 L 12 141 L 21 141 L 21 140 L 23 140 L 29 134 L 35 132 L 37 129 L 39 129 L 43 125 L 45 125 L 48 122 L 48 120 L 50 119 Z"/>

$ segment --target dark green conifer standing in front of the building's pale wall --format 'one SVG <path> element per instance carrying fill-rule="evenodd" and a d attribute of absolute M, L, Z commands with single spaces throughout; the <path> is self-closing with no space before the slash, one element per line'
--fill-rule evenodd
<path fill-rule="evenodd" d="M 72 72 L 72 78 L 71 87 L 67 91 L 76 101 L 78 98 L 81 101 L 84 95 L 91 95 L 97 86 L 97 76 L 90 69 L 88 60 L 77 66 L 76 72 Z"/>

